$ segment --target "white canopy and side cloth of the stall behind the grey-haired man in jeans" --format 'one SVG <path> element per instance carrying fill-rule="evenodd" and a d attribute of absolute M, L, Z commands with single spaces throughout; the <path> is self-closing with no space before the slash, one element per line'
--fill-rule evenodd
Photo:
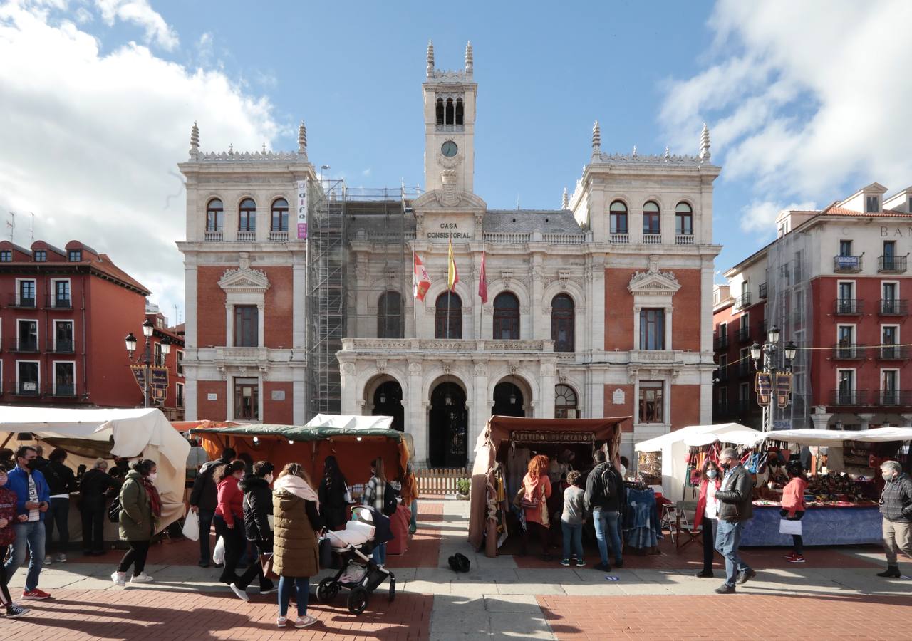
<path fill-rule="evenodd" d="M 679 498 L 687 482 L 687 450 L 691 446 L 707 445 L 717 440 L 739 445 L 754 445 L 763 439 L 763 433 L 740 423 L 720 425 L 690 425 L 675 429 L 655 439 L 643 440 L 634 445 L 634 450 L 661 452 L 662 494 L 669 500 Z"/>

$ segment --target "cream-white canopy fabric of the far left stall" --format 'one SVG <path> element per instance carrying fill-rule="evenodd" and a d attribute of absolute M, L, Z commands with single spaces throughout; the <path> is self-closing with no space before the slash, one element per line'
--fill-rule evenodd
<path fill-rule="evenodd" d="M 183 490 L 190 444 L 156 408 L 77 409 L 25 408 L 0 409 L 0 439 L 16 433 L 31 432 L 35 441 L 46 439 L 83 439 L 111 442 L 111 456 L 154 460 L 158 466 L 155 486 L 161 494 L 161 532 L 183 516 Z M 5 432 L 5 433 L 3 433 Z M 15 449 L 23 441 L 12 444 Z M 31 441 L 25 441 L 31 442 Z M 67 463 L 75 461 L 67 458 Z"/>

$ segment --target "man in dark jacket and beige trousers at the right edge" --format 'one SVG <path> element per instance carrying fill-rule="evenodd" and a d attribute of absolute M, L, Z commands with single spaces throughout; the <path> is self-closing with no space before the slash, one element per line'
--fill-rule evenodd
<path fill-rule="evenodd" d="M 880 464 L 884 476 L 884 493 L 880 495 L 880 513 L 884 517 L 884 552 L 886 571 L 877 576 L 898 579 L 899 552 L 912 558 L 912 479 L 896 460 Z"/>

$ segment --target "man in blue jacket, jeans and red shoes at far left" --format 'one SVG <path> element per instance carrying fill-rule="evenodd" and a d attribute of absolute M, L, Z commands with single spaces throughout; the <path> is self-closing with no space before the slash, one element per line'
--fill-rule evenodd
<path fill-rule="evenodd" d="M 16 469 L 9 472 L 7 487 L 16 492 L 16 514 L 19 522 L 13 525 L 16 541 L 13 553 L 6 562 L 6 576 L 12 578 L 20 565 L 26 562 L 28 547 L 28 574 L 24 599 L 47 599 L 50 594 L 38 589 L 38 578 L 45 558 L 45 512 L 50 505 L 50 489 L 44 474 L 36 470 L 37 451 L 32 445 L 16 450 Z M 23 519 L 22 517 L 25 517 Z"/>

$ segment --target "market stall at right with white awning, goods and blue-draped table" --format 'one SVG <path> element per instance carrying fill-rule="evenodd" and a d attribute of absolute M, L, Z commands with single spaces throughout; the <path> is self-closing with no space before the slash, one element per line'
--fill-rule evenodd
<path fill-rule="evenodd" d="M 877 506 L 879 461 L 907 462 L 912 429 L 879 428 L 857 432 L 825 429 L 786 429 L 767 432 L 766 445 L 782 458 L 799 456 L 807 446 L 814 469 L 805 491 L 807 511 L 802 519 L 805 545 L 880 543 L 881 517 Z M 779 501 L 784 479 L 761 475 L 755 489 L 754 516 L 745 522 L 741 545 L 791 545 L 792 537 L 779 533 Z"/>

